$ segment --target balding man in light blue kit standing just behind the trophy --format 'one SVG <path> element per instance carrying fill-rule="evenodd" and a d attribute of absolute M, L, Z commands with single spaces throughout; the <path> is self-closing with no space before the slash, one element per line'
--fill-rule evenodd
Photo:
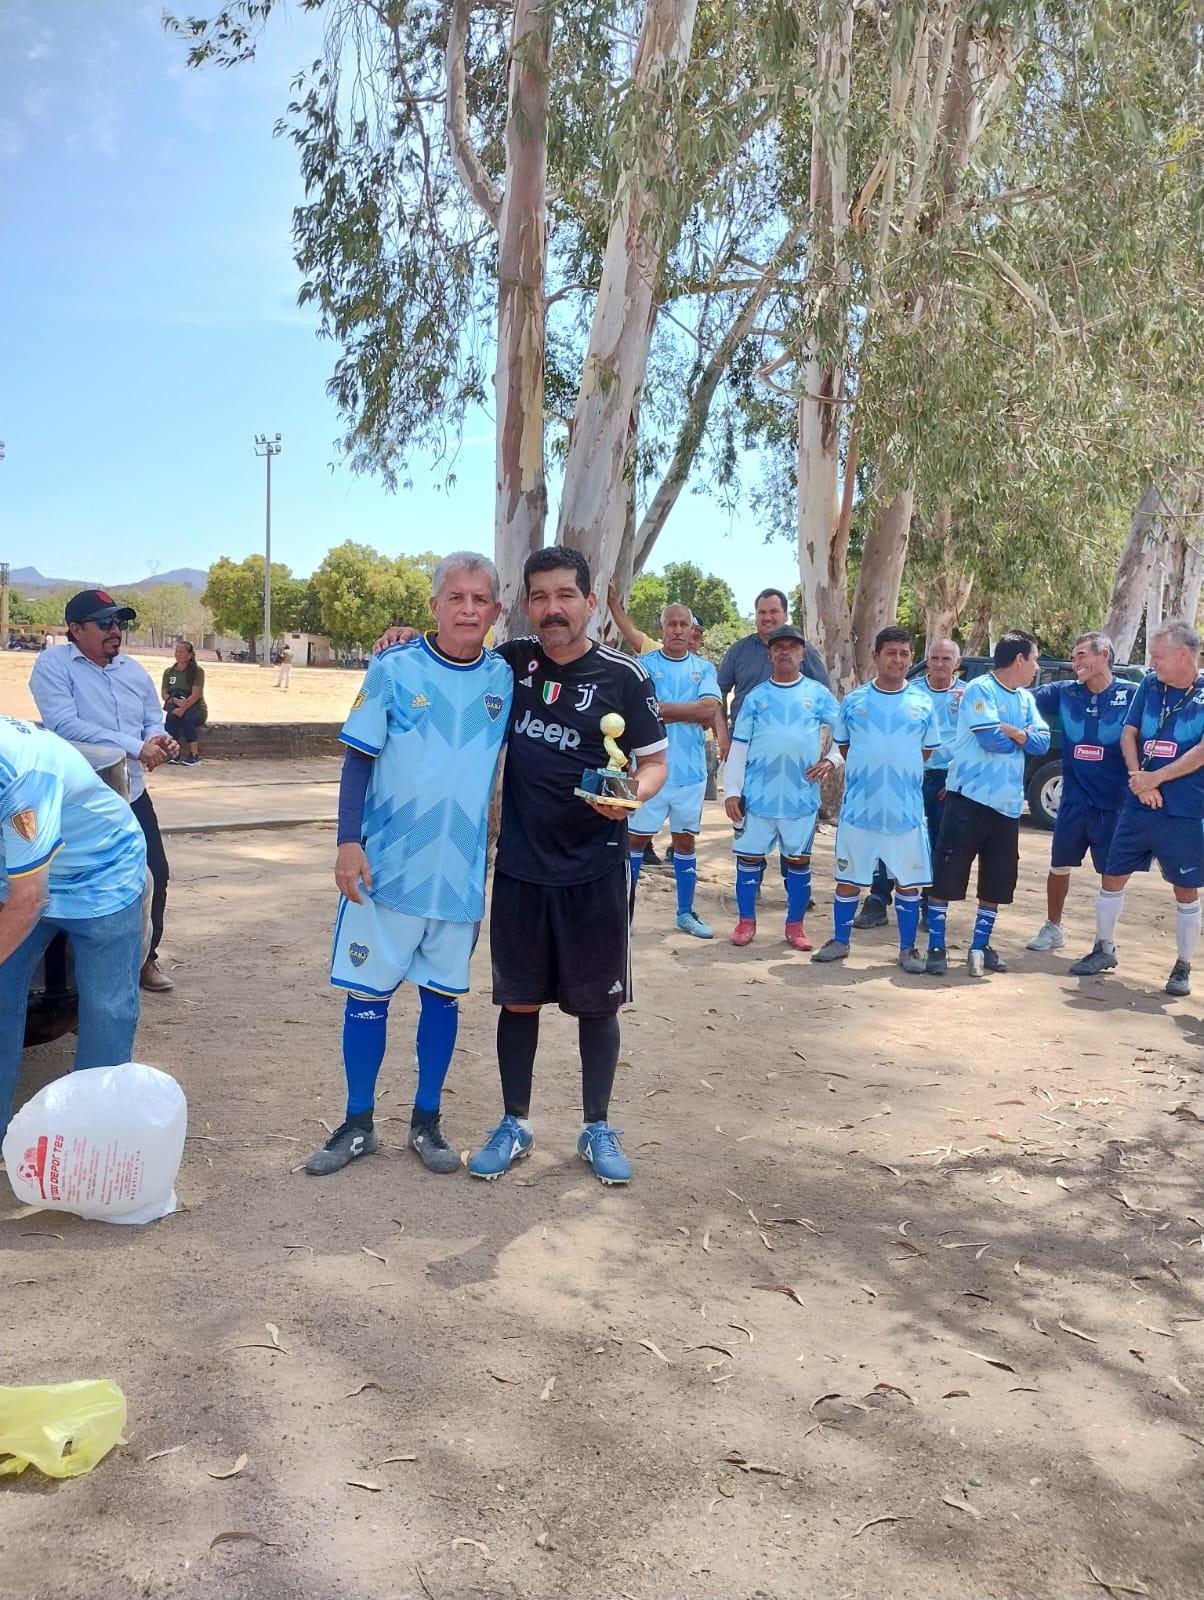
<path fill-rule="evenodd" d="M 666 606 L 661 613 L 660 650 L 640 656 L 669 734 L 669 779 L 658 795 L 632 814 L 628 822 L 628 846 L 634 906 L 644 848 L 668 819 L 672 834 L 672 874 L 677 880 L 677 926 L 696 939 L 712 939 L 711 926 L 695 914 L 693 894 L 698 880 L 695 840 L 703 826 L 706 795 L 706 730 L 719 706 L 719 682 L 711 662 L 690 650 L 693 626 L 688 606 Z"/>

